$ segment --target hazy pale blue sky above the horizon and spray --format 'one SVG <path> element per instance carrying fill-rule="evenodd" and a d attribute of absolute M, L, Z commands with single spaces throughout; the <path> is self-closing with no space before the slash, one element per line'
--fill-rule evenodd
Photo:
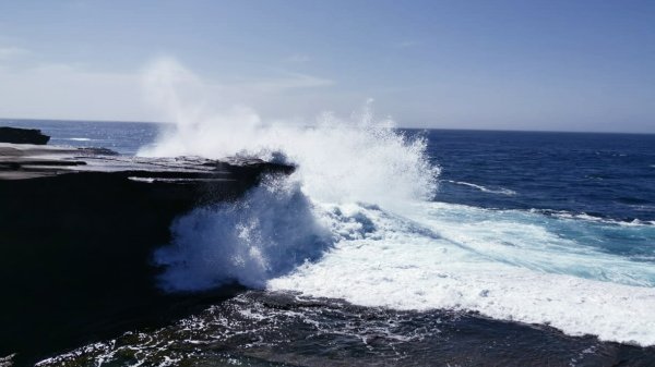
<path fill-rule="evenodd" d="M 263 120 L 655 133 L 655 1 L 0 2 L 0 118 L 165 121 L 162 60 Z"/>

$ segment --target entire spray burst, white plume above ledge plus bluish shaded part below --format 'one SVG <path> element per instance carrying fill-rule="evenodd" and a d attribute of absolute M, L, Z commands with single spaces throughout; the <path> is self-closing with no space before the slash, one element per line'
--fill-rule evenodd
<path fill-rule="evenodd" d="M 166 290 L 199 291 L 235 280 L 262 288 L 319 257 L 338 236 L 336 227 L 366 227 L 366 218 L 343 218 L 325 205 L 401 208 L 431 198 L 437 188 L 439 170 L 428 162 L 426 140 L 406 137 L 390 119 L 376 120 L 372 100 L 349 119 L 322 113 L 298 126 L 264 123 L 242 106 L 210 110 L 196 95 L 200 79 L 172 60 L 155 63 L 145 85 L 151 101 L 176 124 L 140 155 L 283 157 L 297 166 L 291 176 L 269 180 L 236 204 L 198 208 L 178 219 L 174 243 L 155 254 L 166 267 L 160 277 Z"/>

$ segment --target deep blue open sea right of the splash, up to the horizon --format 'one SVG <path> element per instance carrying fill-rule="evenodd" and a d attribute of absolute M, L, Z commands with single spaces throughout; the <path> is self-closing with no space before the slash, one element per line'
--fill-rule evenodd
<path fill-rule="evenodd" d="M 427 136 L 443 168 L 438 200 L 655 220 L 655 135 L 433 130 Z"/>

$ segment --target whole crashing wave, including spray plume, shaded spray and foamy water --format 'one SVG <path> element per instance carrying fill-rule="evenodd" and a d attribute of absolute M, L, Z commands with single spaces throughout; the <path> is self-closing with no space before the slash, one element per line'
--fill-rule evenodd
<path fill-rule="evenodd" d="M 236 280 L 365 306 L 475 310 L 655 344 L 655 316 L 647 311 L 655 304 L 652 246 L 634 246 L 640 260 L 607 250 L 611 238 L 653 238 L 653 225 L 434 203 L 440 169 L 430 163 L 425 137 L 377 120 L 370 101 L 347 119 L 323 113 L 298 126 L 266 122 L 245 106 L 210 109 L 202 81 L 172 60 L 155 63 L 145 83 L 176 124 L 140 155 L 243 155 L 297 166 L 238 203 L 178 219 L 174 243 L 155 254 L 167 267 L 165 290 Z"/>

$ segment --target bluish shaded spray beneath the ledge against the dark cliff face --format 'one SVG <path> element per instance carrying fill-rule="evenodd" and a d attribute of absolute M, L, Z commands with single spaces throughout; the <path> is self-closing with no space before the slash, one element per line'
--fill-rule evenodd
<path fill-rule="evenodd" d="M 296 182 L 269 178 L 242 200 L 198 208 L 171 228 L 171 245 L 155 253 L 168 291 L 202 291 L 229 281 L 265 281 L 318 258 L 332 243 Z"/>

